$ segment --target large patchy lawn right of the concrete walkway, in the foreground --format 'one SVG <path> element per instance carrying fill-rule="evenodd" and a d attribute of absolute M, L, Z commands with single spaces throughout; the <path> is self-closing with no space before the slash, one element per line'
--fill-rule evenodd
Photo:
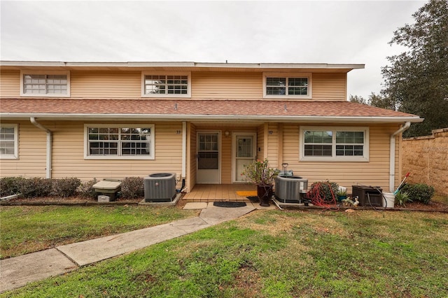
<path fill-rule="evenodd" d="M 0 297 L 447 297 L 444 213 L 257 211 Z"/>

